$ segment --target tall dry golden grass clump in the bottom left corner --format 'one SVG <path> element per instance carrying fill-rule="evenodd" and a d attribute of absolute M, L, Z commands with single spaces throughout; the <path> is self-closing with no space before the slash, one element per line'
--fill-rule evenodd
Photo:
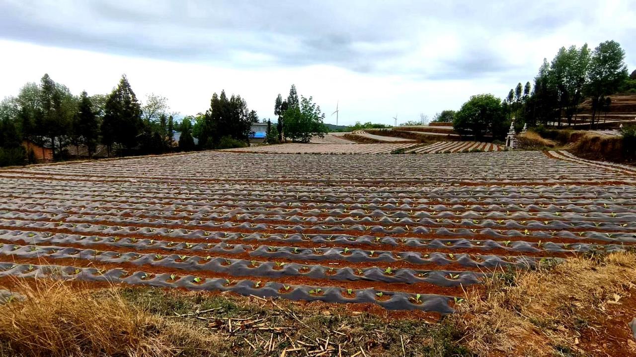
<path fill-rule="evenodd" d="M 114 289 L 97 297 L 60 281 L 38 280 L 12 290 L 26 299 L 0 306 L 1 354 L 160 357 L 222 344 L 191 325 L 130 306 Z"/>

